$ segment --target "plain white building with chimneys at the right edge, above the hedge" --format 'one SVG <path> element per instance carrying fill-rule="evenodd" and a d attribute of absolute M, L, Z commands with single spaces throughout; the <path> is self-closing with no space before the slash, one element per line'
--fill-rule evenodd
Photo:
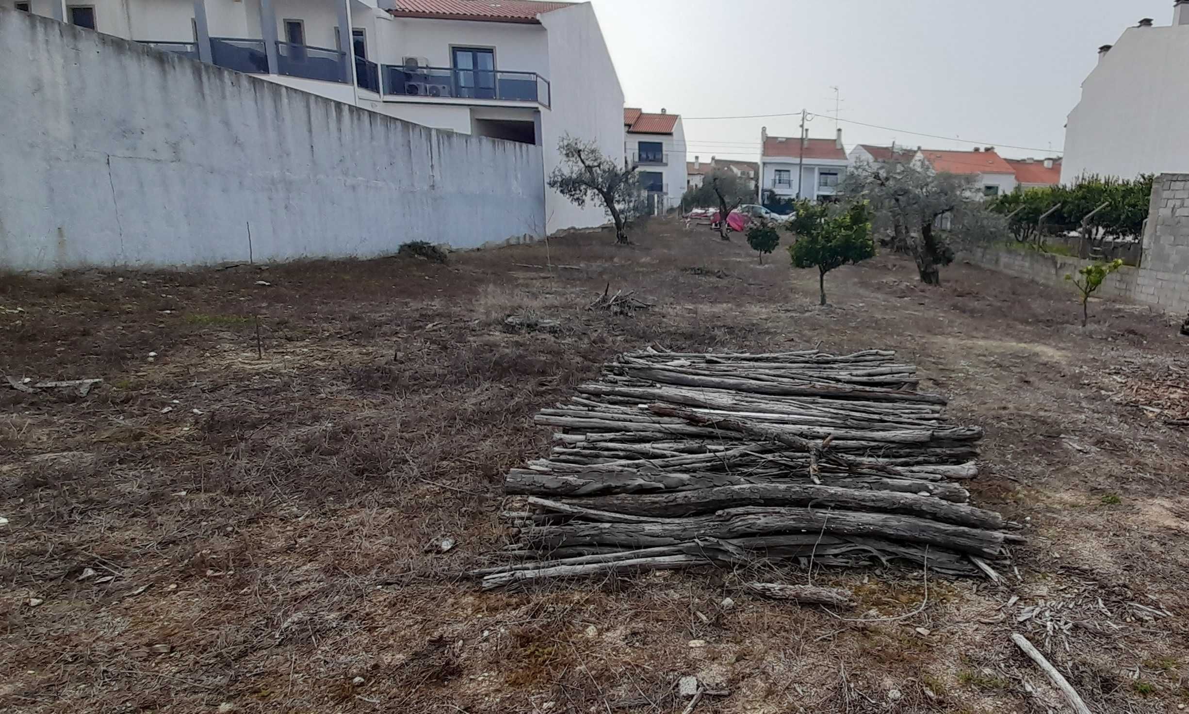
<path fill-rule="evenodd" d="M 1189 1 L 1178 0 L 1172 25 L 1144 19 L 1082 82 L 1082 99 L 1065 128 L 1063 183 L 1086 173 L 1134 178 L 1189 171 Z"/>

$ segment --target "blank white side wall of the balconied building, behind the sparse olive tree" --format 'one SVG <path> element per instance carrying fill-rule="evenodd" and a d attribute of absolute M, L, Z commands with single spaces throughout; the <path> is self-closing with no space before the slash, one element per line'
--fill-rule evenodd
<path fill-rule="evenodd" d="M 623 89 L 590 2 L 541 15 L 548 31 L 553 108 L 541 109 L 545 175 L 559 163 L 558 141 L 566 133 L 593 140 L 615 160 L 623 157 Z M 606 213 L 587 203 L 578 208 L 556 191 L 546 195 L 548 232 L 606 223 Z"/>

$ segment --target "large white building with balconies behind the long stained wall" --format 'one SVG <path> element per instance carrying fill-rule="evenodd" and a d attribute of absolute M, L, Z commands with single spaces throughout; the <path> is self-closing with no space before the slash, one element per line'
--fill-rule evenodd
<path fill-rule="evenodd" d="M 546 176 L 564 134 L 606 156 L 623 144 L 623 90 L 590 2 L 75 1 L 15 5 L 424 126 L 539 144 Z M 549 233 L 606 222 L 548 189 L 546 204 Z"/>

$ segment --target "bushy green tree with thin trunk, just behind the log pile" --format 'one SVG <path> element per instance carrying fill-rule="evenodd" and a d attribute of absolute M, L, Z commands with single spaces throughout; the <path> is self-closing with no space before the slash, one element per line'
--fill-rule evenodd
<path fill-rule="evenodd" d="M 856 201 L 842 214 L 830 215 L 826 207 L 799 204 L 793 222 L 798 239 L 788 247 L 788 254 L 795 267 L 818 268 L 818 289 L 824 305 L 828 272 L 875 255 L 870 209 L 866 201 Z"/>

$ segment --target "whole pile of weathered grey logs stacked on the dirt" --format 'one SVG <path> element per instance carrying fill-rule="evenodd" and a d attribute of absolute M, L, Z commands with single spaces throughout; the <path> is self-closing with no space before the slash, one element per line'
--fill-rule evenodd
<path fill-rule="evenodd" d="M 948 423 L 895 353 L 621 355 L 545 409 L 548 459 L 512 469 L 498 588 L 757 561 L 980 570 L 1021 538 L 971 506 L 977 426 Z"/>

